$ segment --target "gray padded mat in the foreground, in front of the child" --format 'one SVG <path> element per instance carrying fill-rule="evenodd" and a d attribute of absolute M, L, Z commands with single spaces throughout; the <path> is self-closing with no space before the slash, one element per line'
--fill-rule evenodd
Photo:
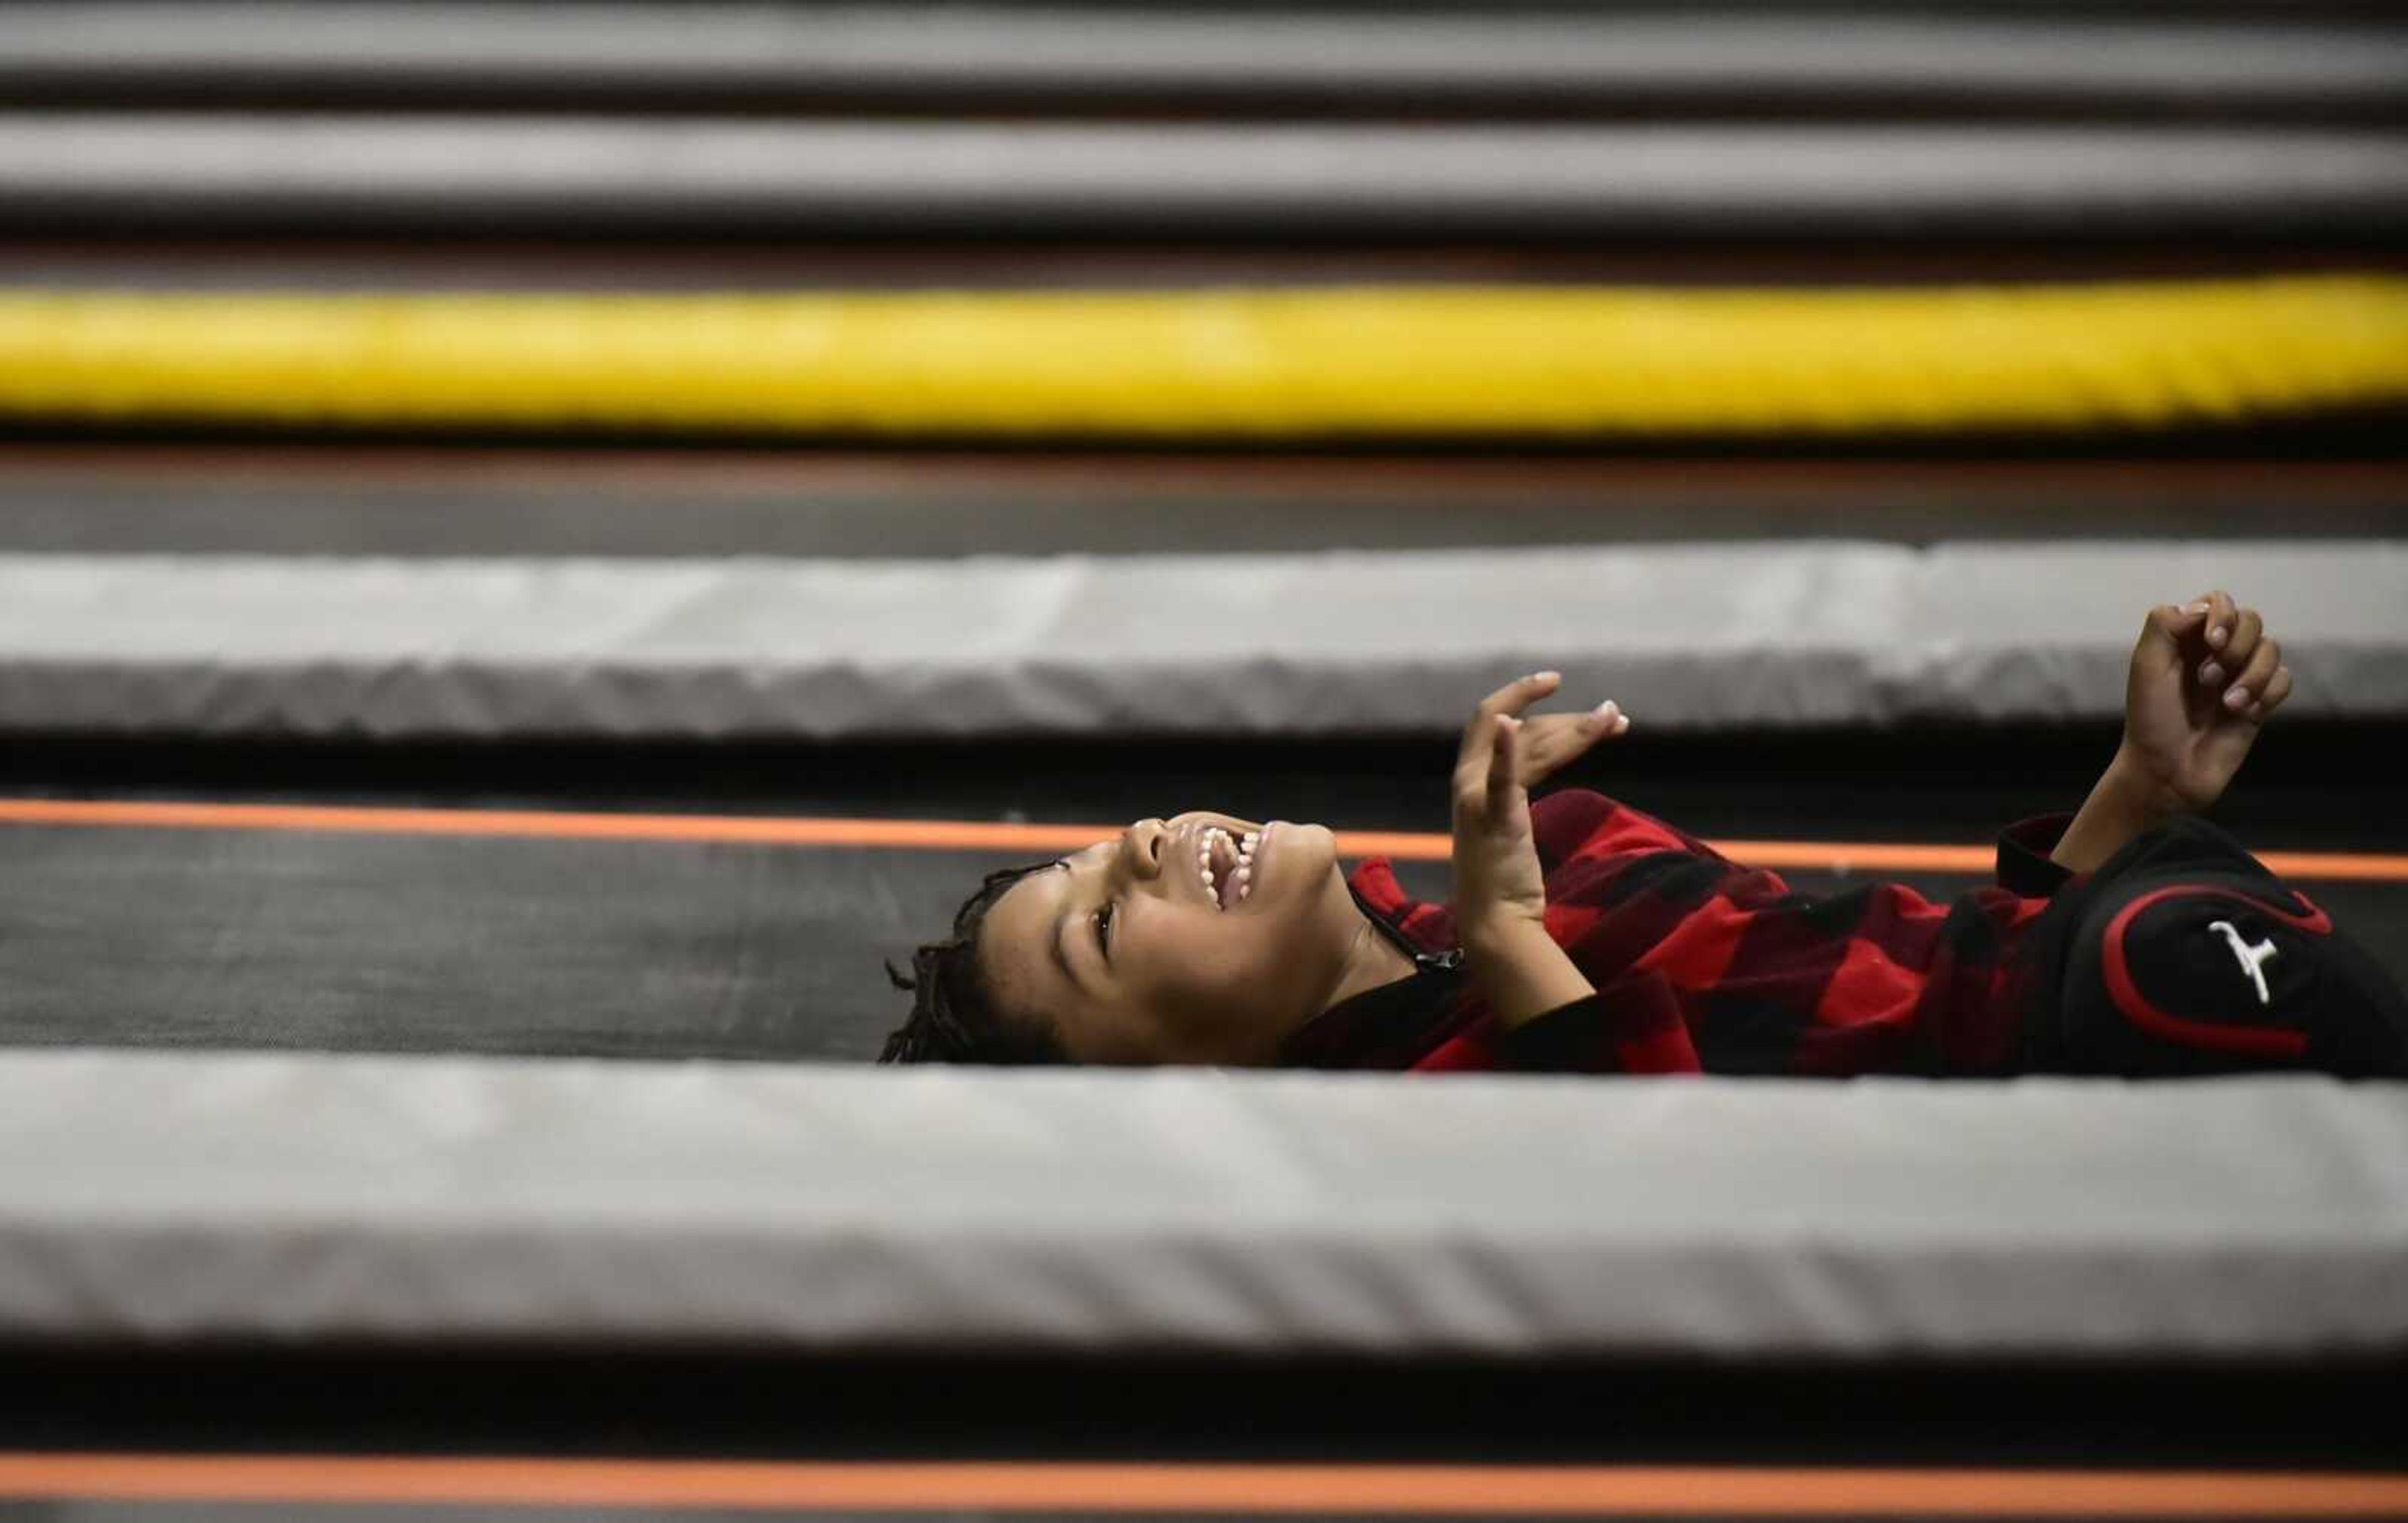
<path fill-rule="evenodd" d="M 2408 1088 L 10 1054 L 0 1333 L 2408 1352 Z"/>

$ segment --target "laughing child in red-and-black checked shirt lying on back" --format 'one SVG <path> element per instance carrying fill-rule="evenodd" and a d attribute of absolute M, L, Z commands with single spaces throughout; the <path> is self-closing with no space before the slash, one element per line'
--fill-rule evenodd
<path fill-rule="evenodd" d="M 1139 820 L 992 873 L 922 946 L 881 1061 L 1580 1073 L 2408 1078 L 2408 998 L 2199 818 L 2290 698 L 2225 592 L 2148 611 L 2124 743 L 2076 816 L 2011 825 L 1936 905 L 1792 893 L 1628 804 L 1529 787 L 1628 731 L 1488 695 L 1454 765 L 1450 905 L 1322 825 Z"/>

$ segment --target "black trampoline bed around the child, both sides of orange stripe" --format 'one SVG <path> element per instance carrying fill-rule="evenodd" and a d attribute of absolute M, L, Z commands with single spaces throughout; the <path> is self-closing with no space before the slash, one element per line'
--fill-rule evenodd
<path fill-rule="evenodd" d="M 2112 727 L 1649 734 L 1570 768 L 1707 840 L 1987 845 L 2071 808 Z M 2408 852 L 2398 724 L 2285 724 L 2218 820 L 2261 852 Z M 886 746 L 190 746 L 14 739 L 0 796 L 734 820 L 1093 823 L 1178 808 L 1435 832 L 1450 736 Z M 1777 755 L 1780 765 L 1765 763 Z M 482 825 L 477 825 L 482 828 Z M 1060 852 L 0 823 L 0 1047 L 869 1061 L 884 960 Z M 1979 854 L 1977 854 L 1979 859 Z M 1399 861 L 1447 893 L 1445 861 Z M 1784 869 L 1804 893 L 1869 876 Z M 1893 873 L 1878 873 L 1893 876 Z M 1946 900 L 1982 878 L 1895 873 Z M 2408 982 L 2408 883 L 2304 881 Z"/>

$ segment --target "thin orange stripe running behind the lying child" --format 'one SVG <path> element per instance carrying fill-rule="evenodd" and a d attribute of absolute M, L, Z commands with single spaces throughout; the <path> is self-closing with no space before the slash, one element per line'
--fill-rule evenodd
<path fill-rule="evenodd" d="M 978 820 L 840 820 L 686 813 L 561 813 L 530 808 L 356 808 L 325 804 L 130 804 L 0 799 L 0 825 L 130 825 L 149 830 L 335 830 L 364 835 L 515 835 L 547 840 L 669 840 L 763 847 L 889 847 L 927 852 L 1076 852 L 1120 825 L 990 825 Z M 1445 861 L 1447 837 L 1411 830 L 1339 830 L 1348 857 Z M 1828 840 L 1717 840 L 1748 866 L 1854 873 L 1987 876 L 1989 847 L 1917 847 Z M 2408 883 L 2408 857 L 2259 852 L 2285 878 Z"/>

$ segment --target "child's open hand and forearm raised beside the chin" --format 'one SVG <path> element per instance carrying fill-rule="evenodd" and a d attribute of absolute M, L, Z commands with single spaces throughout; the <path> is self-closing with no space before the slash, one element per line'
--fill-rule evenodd
<path fill-rule="evenodd" d="M 1454 921 L 1466 938 L 1505 921 L 1541 921 L 1546 878 L 1529 832 L 1529 789 L 1630 729 L 1611 700 L 1584 715 L 1519 717 L 1560 683 L 1553 671 L 1510 681 L 1464 727 L 1454 753 Z"/>

